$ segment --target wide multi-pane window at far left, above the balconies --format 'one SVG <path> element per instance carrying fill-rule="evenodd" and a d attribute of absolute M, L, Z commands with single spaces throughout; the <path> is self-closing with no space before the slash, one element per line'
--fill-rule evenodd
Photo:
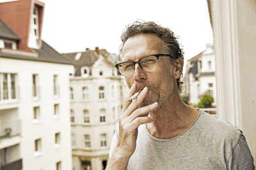
<path fill-rule="evenodd" d="M 16 99 L 15 74 L 0 73 L 0 101 Z"/>

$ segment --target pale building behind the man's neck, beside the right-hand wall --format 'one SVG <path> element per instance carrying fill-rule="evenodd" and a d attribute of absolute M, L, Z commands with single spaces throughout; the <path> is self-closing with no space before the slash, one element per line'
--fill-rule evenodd
<path fill-rule="evenodd" d="M 208 94 L 214 98 L 212 105 L 216 106 L 216 78 L 213 45 L 207 44 L 204 52 L 198 53 L 188 60 L 184 75 L 183 96 L 189 103 L 198 104 L 200 96 Z"/>

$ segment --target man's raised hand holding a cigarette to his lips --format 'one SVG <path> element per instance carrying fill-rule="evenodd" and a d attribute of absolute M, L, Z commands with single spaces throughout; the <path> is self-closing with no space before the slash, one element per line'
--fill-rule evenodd
<path fill-rule="evenodd" d="M 135 83 L 129 90 L 119 120 L 118 141 L 116 143 L 115 152 L 113 152 L 113 160 L 118 160 L 118 162 L 128 161 L 136 148 L 138 127 L 141 124 L 153 122 L 152 118 L 147 117 L 147 115 L 150 111 L 157 108 L 157 103 L 138 108 L 147 94 L 147 87 L 136 92 Z M 109 161 L 112 162 L 112 159 Z"/>

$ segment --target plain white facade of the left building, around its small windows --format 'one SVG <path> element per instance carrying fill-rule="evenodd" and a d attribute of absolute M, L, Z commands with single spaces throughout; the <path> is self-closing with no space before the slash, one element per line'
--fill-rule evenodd
<path fill-rule="evenodd" d="M 20 152 L 24 169 L 72 169 L 70 137 L 69 77 L 72 65 L 1 58 L 0 72 L 17 73 L 19 117 L 21 120 Z M 32 74 L 38 74 L 40 98 L 33 101 Z M 60 97 L 53 97 L 53 75 L 58 75 Z M 54 119 L 54 103 L 60 104 L 60 118 Z M 33 123 L 33 107 L 40 106 L 41 122 Z M 54 134 L 61 133 L 60 148 L 54 147 Z M 35 139 L 42 139 L 42 155 L 35 157 Z"/>

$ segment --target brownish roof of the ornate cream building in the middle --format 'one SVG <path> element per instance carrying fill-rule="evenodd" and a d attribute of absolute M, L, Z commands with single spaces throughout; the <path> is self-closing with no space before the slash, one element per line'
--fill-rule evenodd
<path fill-rule="evenodd" d="M 75 59 L 77 53 L 81 53 L 81 57 L 79 59 Z M 99 50 L 86 50 L 85 52 L 72 52 L 72 53 L 62 53 L 64 57 L 66 57 L 70 62 L 74 64 L 76 67 L 76 73 L 75 76 L 81 76 L 81 67 L 87 66 L 91 67 L 95 62 L 100 58 L 100 55 L 102 55 L 103 59 L 114 67 L 114 64 L 117 62 L 117 56 L 116 54 L 109 53 L 105 49 Z"/>

